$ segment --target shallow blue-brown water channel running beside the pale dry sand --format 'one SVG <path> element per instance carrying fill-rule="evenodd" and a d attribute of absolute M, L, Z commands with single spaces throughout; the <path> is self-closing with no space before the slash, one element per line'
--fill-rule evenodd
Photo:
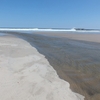
<path fill-rule="evenodd" d="M 45 55 L 60 78 L 68 81 L 73 91 L 84 95 L 85 100 L 100 99 L 100 44 L 97 41 L 79 41 L 51 34 L 12 34 L 25 39 Z"/>

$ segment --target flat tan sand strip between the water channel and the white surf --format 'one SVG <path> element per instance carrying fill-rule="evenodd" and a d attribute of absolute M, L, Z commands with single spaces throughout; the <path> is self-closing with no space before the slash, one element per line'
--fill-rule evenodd
<path fill-rule="evenodd" d="M 100 43 L 100 34 L 96 32 L 34 32 L 36 34 L 43 34 L 47 36 L 64 37 L 74 40 L 90 41 Z"/>

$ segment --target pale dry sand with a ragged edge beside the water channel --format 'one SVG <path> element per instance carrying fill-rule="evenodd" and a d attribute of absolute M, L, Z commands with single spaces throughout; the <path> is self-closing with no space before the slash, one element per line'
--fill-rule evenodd
<path fill-rule="evenodd" d="M 28 42 L 0 37 L 0 100 L 84 100 Z"/>

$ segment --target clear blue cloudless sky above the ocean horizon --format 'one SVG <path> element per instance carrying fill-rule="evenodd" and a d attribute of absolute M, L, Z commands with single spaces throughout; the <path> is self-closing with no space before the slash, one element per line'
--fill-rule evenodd
<path fill-rule="evenodd" d="M 100 29 L 100 0 L 0 0 L 0 27 Z"/>

